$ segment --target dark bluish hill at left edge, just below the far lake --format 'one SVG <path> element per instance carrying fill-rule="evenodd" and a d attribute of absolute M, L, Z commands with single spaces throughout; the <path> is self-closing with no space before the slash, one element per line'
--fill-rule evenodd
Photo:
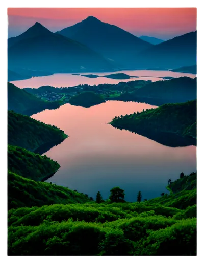
<path fill-rule="evenodd" d="M 45 109 L 56 109 L 61 104 L 60 101 L 43 101 L 10 82 L 7 83 L 7 100 L 8 110 L 14 110 L 24 115 L 36 114 Z"/>

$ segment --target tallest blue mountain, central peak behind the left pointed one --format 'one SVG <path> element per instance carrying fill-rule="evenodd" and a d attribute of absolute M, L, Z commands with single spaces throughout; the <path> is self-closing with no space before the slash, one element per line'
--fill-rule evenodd
<path fill-rule="evenodd" d="M 134 67 L 136 53 L 152 46 L 149 42 L 93 16 L 56 33 L 87 45 L 120 67 Z"/>

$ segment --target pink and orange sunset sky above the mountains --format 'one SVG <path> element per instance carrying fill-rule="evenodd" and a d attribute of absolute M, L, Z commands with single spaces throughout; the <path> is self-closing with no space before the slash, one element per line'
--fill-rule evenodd
<path fill-rule="evenodd" d="M 81 22 L 88 16 L 94 16 L 102 22 L 116 25 L 136 36 L 146 35 L 168 40 L 195 31 L 197 13 L 196 7 L 188 6 L 9 6 L 8 37 L 23 33 L 36 22 L 56 32 Z"/>

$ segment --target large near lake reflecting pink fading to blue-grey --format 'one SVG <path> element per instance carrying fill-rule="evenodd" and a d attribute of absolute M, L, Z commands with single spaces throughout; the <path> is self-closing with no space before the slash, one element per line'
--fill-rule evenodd
<path fill-rule="evenodd" d="M 168 147 L 107 124 L 115 116 L 148 108 L 156 106 L 107 101 L 91 108 L 65 104 L 33 115 L 37 120 L 56 125 L 69 136 L 45 153 L 61 165 L 47 181 L 93 198 L 100 191 L 104 199 L 112 187 L 120 186 L 127 201 L 136 201 L 139 190 L 143 199 L 158 197 L 167 192 L 168 179 L 179 178 L 181 172 L 186 175 L 195 172 L 196 146 Z"/>

